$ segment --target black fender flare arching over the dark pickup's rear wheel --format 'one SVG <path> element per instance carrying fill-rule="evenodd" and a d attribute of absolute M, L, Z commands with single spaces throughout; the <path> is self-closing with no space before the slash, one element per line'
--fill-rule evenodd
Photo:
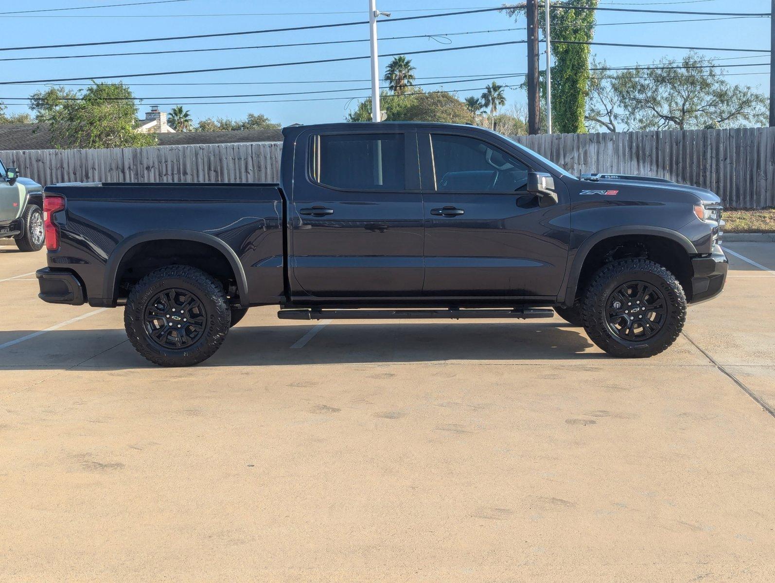
<path fill-rule="evenodd" d="M 145 231 L 127 237 L 120 242 L 119 245 L 116 245 L 108 258 L 108 262 L 105 263 L 105 281 L 102 284 L 102 297 L 105 300 L 108 300 L 110 304 L 115 304 L 115 300 L 118 298 L 119 282 L 117 278 L 119 275 L 119 266 L 121 265 L 122 259 L 124 259 L 131 249 L 136 247 L 136 245 L 140 245 L 140 243 L 160 241 L 163 239 L 177 239 L 179 241 L 204 243 L 221 252 L 221 254 L 229 261 L 229 265 L 232 266 L 241 302 L 243 304 L 247 302 L 248 287 L 245 269 L 243 268 L 242 262 L 239 261 L 236 252 L 234 252 L 234 249 L 213 235 L 208 235 L 207 233 L 201 233 L 199 231 L 186 231 L 184 229 Z"/>

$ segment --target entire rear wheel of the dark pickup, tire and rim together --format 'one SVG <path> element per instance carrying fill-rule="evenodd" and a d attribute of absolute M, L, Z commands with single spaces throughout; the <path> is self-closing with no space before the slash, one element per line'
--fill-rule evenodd
<path fill-rule="evenodd" d="M 162 366 L 210 358 L 229 332 L 222 286 L 190 266 L 167 266 L 140 279 L 126 302 L 124 327 L 140 355 Z"/>

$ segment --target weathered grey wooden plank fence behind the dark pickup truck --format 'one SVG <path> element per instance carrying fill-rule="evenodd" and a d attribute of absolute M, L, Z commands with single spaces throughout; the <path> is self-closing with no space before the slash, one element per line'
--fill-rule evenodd
<path fill-rule="evenodd" d="M 775 128 L 519 135 L 571 173 L 669 178 L 712 190 L 728 207 L 775 206 Z M 0 152 L 6 166 L 57 182 L 277 182 L 280 143 Z"/>

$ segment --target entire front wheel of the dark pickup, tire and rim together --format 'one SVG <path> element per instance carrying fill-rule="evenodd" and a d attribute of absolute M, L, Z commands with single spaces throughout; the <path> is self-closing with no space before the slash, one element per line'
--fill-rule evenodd
<path fill-rule="evenodd" d="M 609 355 L 644 358 L 678 338 L 686 321 L 686 295 L 658 263 L 620 259 L 592 277 L 582 314 L 584 330 Z"/>

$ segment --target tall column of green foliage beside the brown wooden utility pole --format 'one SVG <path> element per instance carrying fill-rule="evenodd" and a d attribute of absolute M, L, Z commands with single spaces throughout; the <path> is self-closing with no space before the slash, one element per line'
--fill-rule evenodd
<path fill-rule="evenodd" d="M 549 10 L 549 26 L 553 41 L 589 43 L 594 38 L 594 10 L 598 0 L 553 0 Z M 525 14 L 524 5 L 504 9 L 508 15 Z M 539 5 L 539 22 L 545 21 Z M 584 133 L 587 81 L 589 77 L 590 46 L 586 44 L 552 43 L 555 64 L 552 67 L 552 122 L 553 132 Z"/>

